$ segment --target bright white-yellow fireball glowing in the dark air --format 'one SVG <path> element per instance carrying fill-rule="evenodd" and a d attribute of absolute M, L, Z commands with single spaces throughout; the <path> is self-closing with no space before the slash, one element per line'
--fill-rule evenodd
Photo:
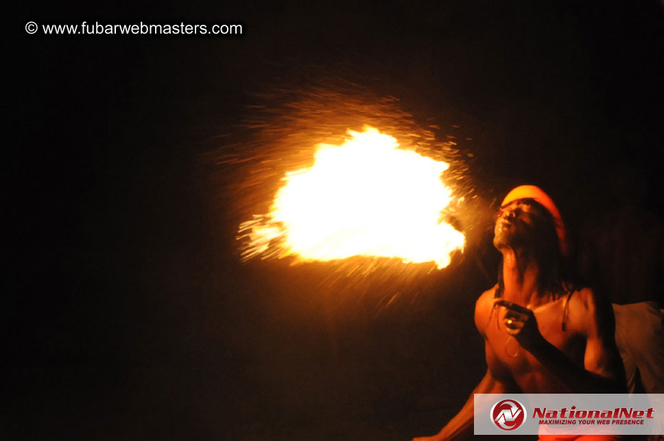
<path fill-rule="evenodd" d="M 452 191 L 447 163 L 399 149 L 375 128 L 348 130 L 343 145 L 320 144 L 312 167 L 291 171 L 267 215 L 240 226 L 243 257 L 332 261 L 396 257 L 446 267 L 464 235 L 440 222 Z"/>

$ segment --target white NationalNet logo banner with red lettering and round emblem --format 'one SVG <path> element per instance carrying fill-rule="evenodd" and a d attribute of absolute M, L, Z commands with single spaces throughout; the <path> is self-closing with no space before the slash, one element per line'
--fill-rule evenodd
<path fill-rule="evenodd" d="M 660 435 L 664 394 L 475 394 L 475 435 Z"/>

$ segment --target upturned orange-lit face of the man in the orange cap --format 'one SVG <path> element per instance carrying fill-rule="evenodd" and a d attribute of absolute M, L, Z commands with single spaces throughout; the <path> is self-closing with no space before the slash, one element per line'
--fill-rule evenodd
<path fill-rule="evenodd" d="M 538 217 L 537 208 L 527 199 L 501 206 L 493 230 L 493 245 L 498 249 L 530 246 L 534 243 Z"/>

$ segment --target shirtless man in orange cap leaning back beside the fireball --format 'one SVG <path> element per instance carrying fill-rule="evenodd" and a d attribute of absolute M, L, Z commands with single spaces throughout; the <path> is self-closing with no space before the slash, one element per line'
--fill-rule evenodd
<path fill-rule="evenodd" d="M 613 311 L 565 277 L 569 246 L 551 198 L 532 185 L 513 189 L 494 233 L 503 261 L 475 304 L 488 369 L 473 394 L 625 392 Z M 436 436 L 416 440 L 470 438 L 473 394 Z"/>

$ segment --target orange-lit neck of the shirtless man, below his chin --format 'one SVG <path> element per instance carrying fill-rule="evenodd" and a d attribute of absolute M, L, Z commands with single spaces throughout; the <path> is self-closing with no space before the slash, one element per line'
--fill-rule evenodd
<path fill-rule="evenodd" d="M 524 250 L 504 248 L 503 298 L 522 306 L 530 305 L 538 298 L 537 280 L 539 267 Z"/>

